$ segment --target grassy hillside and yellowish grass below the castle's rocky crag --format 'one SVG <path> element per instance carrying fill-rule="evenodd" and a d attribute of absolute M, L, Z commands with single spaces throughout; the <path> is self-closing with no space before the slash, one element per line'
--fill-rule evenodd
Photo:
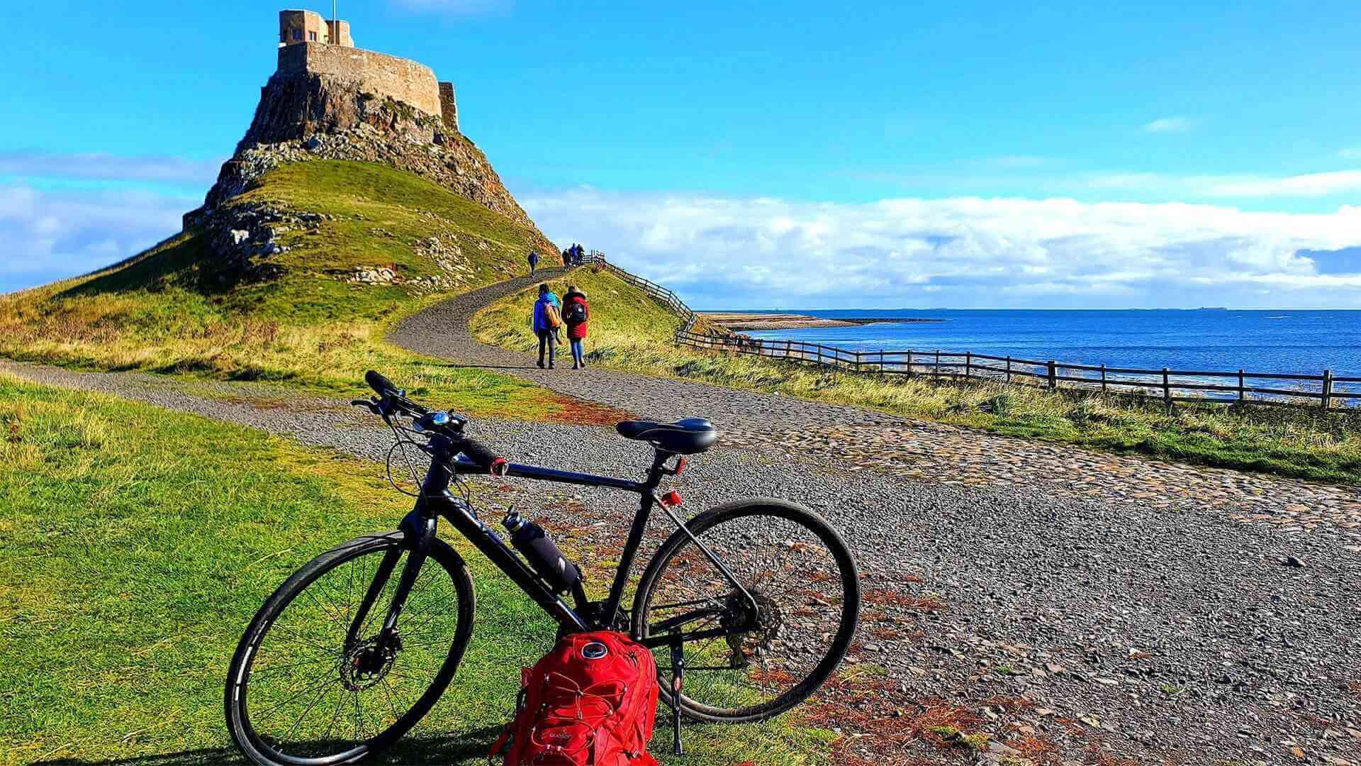
<path fill-rule="evenodd" d="M 531 247 L 557 252 L 532 228 L 365 162 L 282 165 L 218 215 L 261 204 L 313 221 L 276 236 L 284 252 L 252 259 L 271 277 L 214 252 L 208 232 L 182 233 L 106 270 L 0 296 L 0 356 L 324 391 L 352 391 L 363 369 L 381 368 L 423 393 L 457 393 L 474 413 L 553 417 L 557 405 L 532 386 L 382 341 L 403 316 L 523 273 Z M 351 281 L 376 269 L 392 284 Z"/>

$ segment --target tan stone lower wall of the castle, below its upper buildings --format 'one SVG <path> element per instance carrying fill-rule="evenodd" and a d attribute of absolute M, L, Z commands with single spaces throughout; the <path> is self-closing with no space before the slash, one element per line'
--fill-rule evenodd
<path fill-rule="evenodd" d="M 442 117 L 445 113 L 434 70 L 387 53 L 316 42 L 284 45 L 279 48 L 279 74 L 329 75 L 352 82 L 365 93 L 410 104 L 427 114 Z M 452 90 L 450 86 L 450 98 Z"/>

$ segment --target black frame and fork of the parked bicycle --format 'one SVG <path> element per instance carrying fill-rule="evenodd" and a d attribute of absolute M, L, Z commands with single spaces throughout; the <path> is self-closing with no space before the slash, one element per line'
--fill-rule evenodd
<path fill-rule="evenodd" d="M 623 492 L 636 492 L 640 496 L 638 512 L 633 517 L 633 523 L 629 527 L 629 537 L 625 541 L 623 553 L 619 560 L 619 567 L 614 574 L 614 581 L 610 585 L 610 594 L 606 598 L 602 608 L 596 609 L 595 615 L 588 613 L 589 601 L 585 598 L 584 587 L 578 586 L 576 592 L 576 607 L 568 605 L 562 597 L 554 592 L 544 581 L 540 578 L 528 564 L 516 553 L 513 548 L 506 545 L 506 542 L 493 530 L 490 526 L 478 518 L 476 511 L 468 504 L 463 497 L 455 496 L 449 492 L 449 484 L 457 473 L 464 474 L 487 474 L 489 472 L 468 461 L 456 459 L 453 450 L 456 448 L 455 442 L 442 436 L 434 435 L 430 439 L 429 447 L 425 450 L 431 455 L 430 469 L 426 472 L 425 481 L 421 485 L 421 493 L 416 499 L 415 508 L 401 521 L 401 530 L 407 537 L 407 549 L 410 556 L 407 564 L 401 571 L 401 578 L 397 581 L 397 590 L 393 594 L 392 605 L 388 609 L 388 615 L 384 619 L 382 632 L 380 634 L 380 643 L 385 643 L 396 631 L 397 619 L 400 617 L 401 608 L 406 602 L 407 596 L 411 592 L 411 586 L 415 583 L 416 575 L 419 574 L 421 566 L 425 563 L 426 553 L 430 548 L 430 541 L 436 534 L 436 523 L 440 517 L 444 517 L 460 534 L 463 534 L 468 541 L 471 541 L 493 564 L 497 566 L 506 577 L 509 577 L 520 590 L 523 590 L 535 604 L 538 604 L 544 612 L 547 612 L 554 620 L 558 622 L 568 631 L 589 631 L 589 630 L 603 630 L 615 628 L 619 626 L 619 604 L 623 600 L 623 592 L 629 582 L 629 574 L 633 570 L 634 559 L 637 557 L 638 547 L 642 544 L 642 536 L 646 530 L 648 521 L 652 517 L 652 510 L 655 506 L 661 506 L 661 508 L 671 517 L 676 526 L 690 537 L 691 542 L 723 572 L 723 575 L 734 585 L 734 587 L 742 593 L 742 596 L 751 604 L 751 613 L 757 613 L 755 600 L 750 593 L 742 586 L 738 578 L 732 574 L 728 567 L 719 560 L 719 557 L 709 551 L 704 542 L 701 542 L 695 536 L 690 534 L 686 527 L 685 521 L 676 515 L 667 504 L 661 503 L 656 496 L 656 489 L 661 484 L 663 477 L 674 476 L 675 469 L 668 469 L 667 462 L 675 457 L 668 453 L 656 451 L 653 455 L 652 466 L 648 469 L 646 478 L 642 481 L 630 481 L 625 478 L 615 478 L 610 476 L 595 476 L 589 473 L 576 473 L 568 470 L 557 470 L 550 468 L 540 468 L 534 465 L 509 463 L 505 476 L 532 478 L 539 481 L 551 481 L 557 484 L 578 484 L 585 487 L 604 487 L 610 489 L 619 489 Z M 446 468 L 449 466 L 449 468 Z M 391 552 L 380 563 L 378 571 L 374 575 L 373 582 L 365 594 L 363 602 L 357 611 L 350 631 L 346 637 L 346 646 L 351 646 L 359 637 L 359 627 L 365 623 L 369 611 L 373 607 L 373 601 L 382 592 L 387 585 L 388 578 L 391 578 L 392 571 L 396 567 L 396 562 L 400 557 L 400 552 Z M 709 628 L 704 631 L 694 631 L 689 634 L 675 634 L 687 622 L 695 619 L 704 619 L 715 613 L 713 608 L 697 609 L 689 615 L 679 615 L 671 617 L 661 623 L 666 628 L 663 635 L 646 637 L 641 639 L 641 643 L 646 646 L 675 646 L 679 641 L 702 641 L 716 637 L 727 637 L 735 632 L 742 632 L 749 630 L 744 624 L 731 624 L 717 628 Z"/>

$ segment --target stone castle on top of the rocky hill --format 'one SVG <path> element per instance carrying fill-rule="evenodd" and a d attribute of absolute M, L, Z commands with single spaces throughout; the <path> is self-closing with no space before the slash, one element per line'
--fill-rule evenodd
<path fill-rule="evenodd" d="M 363 93 L 393 98 L 459 129 L 453 83 L 438 82 L 434 70 L 410 59 L 354 46 L 350 22 L 323 19 L 313 11 L 279 11 L 280 75 L 329 75 L 350 80 Z"/>

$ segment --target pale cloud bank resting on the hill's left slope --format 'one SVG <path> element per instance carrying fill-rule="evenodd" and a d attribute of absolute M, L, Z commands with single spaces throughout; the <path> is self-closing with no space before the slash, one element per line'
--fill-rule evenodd
<path fill-rule="evenodd" d="M 135 191 L 0 185 L 0 292 L 84 274 L 180 230 L 201 200 Z"/>

